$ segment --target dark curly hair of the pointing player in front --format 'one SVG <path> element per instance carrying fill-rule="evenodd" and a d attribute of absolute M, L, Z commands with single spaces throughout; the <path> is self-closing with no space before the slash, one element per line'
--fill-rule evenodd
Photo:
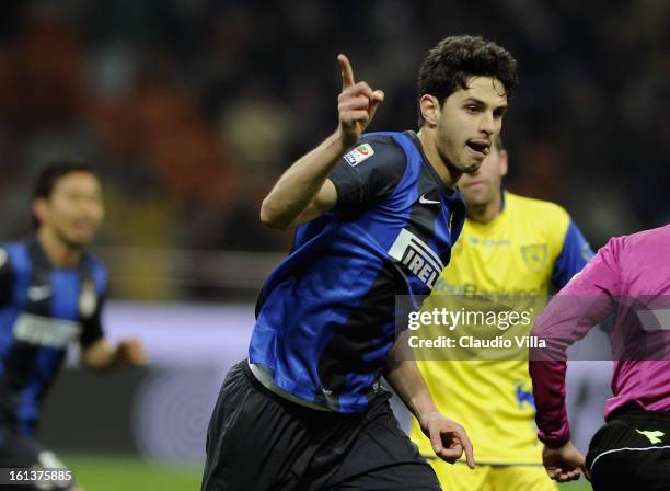
<path fill-rule="evenodd" d="M 458 89 L 467 89 L 473 76 L 498 79 L 508 96 L 519 83 L 517 60 L 507 49 L 481 36 L 451 36 L 426 54 L 419 69 L 419 100 L 430 94 L 441 105 Z M 424 124 L 420 109 L 418 124 Z"/>

